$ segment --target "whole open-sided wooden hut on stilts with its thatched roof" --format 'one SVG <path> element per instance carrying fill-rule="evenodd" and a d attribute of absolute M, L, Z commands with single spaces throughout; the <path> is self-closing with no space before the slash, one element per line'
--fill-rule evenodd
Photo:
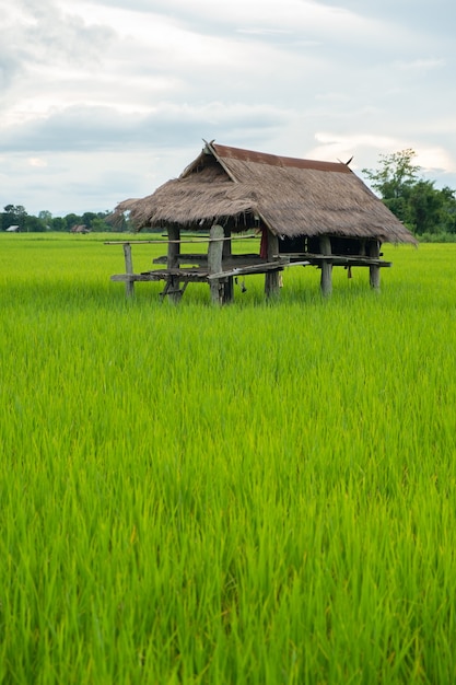
<path fill-rule="evenodd" d="M 135 274 L 131 241 L 125 242 L 126 282 L 165 281 L 162 295 L 178 300 L 189 282 L 207 282 L 214 302 L 233 298 L 233 278 L 265 274 L 268 297 L 279 291 L 280 271 L 290 266 L 320 268 L 324 294 L 331 292 L 334 266 L 367 267 L 379 288 L 382 243 L 417 244 L 367 186 L 343 163 L 277 156 L 206 143 L 182 175 L 143 199 L 120 202 L 115 213 L 130 212 L 140 230 L 167 231 L 164 268 Z M 235 255 L 232 241 L 246 231 L 261 234 L 259 254 Z M 206 233 L 185 241 L 183 231 Z M 207 241 L 207 254 L 184 254 L 185 242 Z M 143 244 L 143 241 L 141 241 Z"/>

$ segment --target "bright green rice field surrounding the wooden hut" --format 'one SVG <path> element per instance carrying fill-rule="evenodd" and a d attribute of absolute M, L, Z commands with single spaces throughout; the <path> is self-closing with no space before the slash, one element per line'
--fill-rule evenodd
<path fill-rule="evenodd" d="M 0 235 L 0 683 L 455 683 L 456 245 L 219 309 L 107 239 Z"/>

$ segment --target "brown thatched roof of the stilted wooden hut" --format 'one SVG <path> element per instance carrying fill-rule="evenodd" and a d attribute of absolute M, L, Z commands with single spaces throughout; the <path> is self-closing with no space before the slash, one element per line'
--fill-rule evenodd
<path fill-rule="evenodd" d="M 367 186 L 342 163 L 264 154 L 206 143 L 176 179 L 152 195 L 120 202 L 137 228 L 213 223 L 243 231 L 261 224 L 283 236 L 375 237 L 416 243 Z"/>

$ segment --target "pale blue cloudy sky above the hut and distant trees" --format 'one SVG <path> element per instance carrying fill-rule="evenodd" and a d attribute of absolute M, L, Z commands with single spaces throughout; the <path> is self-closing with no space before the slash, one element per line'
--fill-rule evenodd
<path fill-rule="evenodd" d="M 0 210 L 104 211 L 202 139 L 456 188 L 454 0 L 0 0 Z"/>

